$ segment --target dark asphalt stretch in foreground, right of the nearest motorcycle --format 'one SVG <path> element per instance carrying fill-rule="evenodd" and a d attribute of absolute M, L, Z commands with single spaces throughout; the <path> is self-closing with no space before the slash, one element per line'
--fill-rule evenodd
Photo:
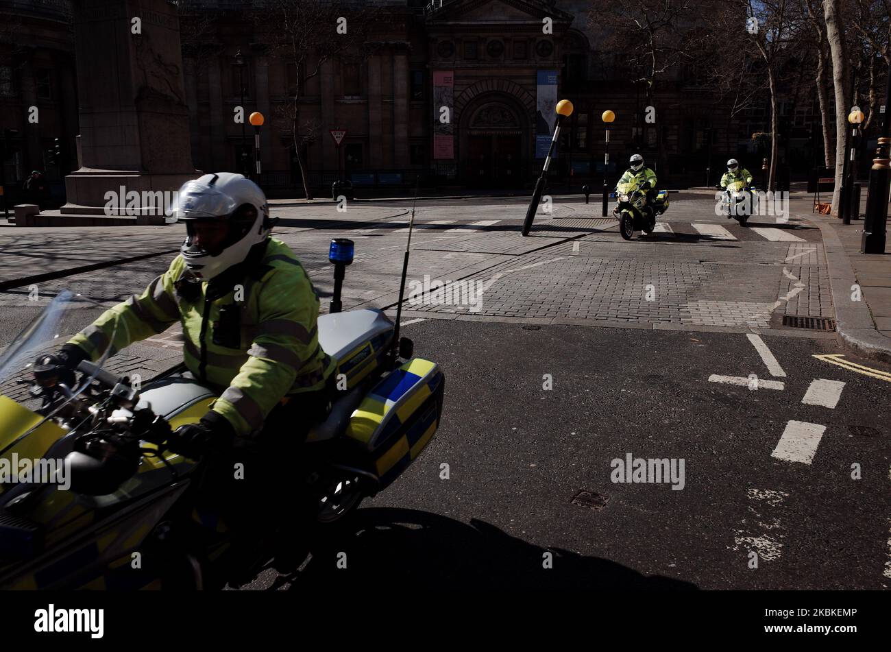
<path fill-rule="evenodd" d="M 446 373 L 442 428 L 285 588 L 887 588 L 887 382 L 813 357 L 834 341 L 764 336 L 787 376 L 752 390 L 708 381 L 773 379 L 743 334 L 435 321 L 405 334 Z M 845 383 L 837 407 L 802 403 L 814 379 Z M 826 427 L 812 463 L 772 457 L 790 420 Z M 629 453 L 683 459 L 683 488 L 612 482 Z"/>

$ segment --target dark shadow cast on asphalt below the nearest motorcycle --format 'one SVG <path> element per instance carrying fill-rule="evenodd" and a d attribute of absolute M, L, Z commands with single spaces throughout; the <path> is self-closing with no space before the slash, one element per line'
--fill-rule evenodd
<path fill-rule="evenodd" d="M 553 555 L 543 567 L 544 553 Z M 338 568 L 346 553 L 347 568 Z M 688 582 L 644 576 L 608 559 L 544 549 L 484 521 L 464 524 L 415 509 L 356 512 L 349 534 L 319 550 L 291 589 L 384 585 L 415 589 L 589 589 L 691 591 Z"/>

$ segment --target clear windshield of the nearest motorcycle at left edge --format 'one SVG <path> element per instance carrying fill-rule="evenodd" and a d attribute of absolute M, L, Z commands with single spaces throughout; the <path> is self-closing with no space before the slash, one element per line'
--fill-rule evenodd
<path fill-rule="evenodd" d="M 39 305 L 39 299 L 35 302 Z M 56 297 L 53 297 L 45 307 L 34 317 L 19 335 L 12 339 L 0 354 L 0 400 L 12 400 L 20 403 L 32 412 L 36 412 L 41 406 L 41 399 L 29 392 L 29 384 L 33 382 L 35 362 L 39 355 L 58 353 L 59 349 L 79 330 L 82 330 L 98 316 L 93 309 L 102 309 L 91 299 L 75 295 L 65 289 Z M 117 326 L 115 327 L 117 329 Z M 114 330 L 113 335 L 117 332 Z M 74 387 L 68 387 L 64 392 L 64 398 L 52 404 L 50 409 L 43 414 L 43 419 L 33 424 L 26 433 L 15 437 L 16 441 L 28 436 L 39 428 L 46 420 L 51 419 L 65 405 L 73 401 L 96 378 L 99 371 L 108 359 L 111 347 L 102 358 L 94 363 L 95 369 L 89 374 L 78 374 L 79 382 Z M 0 440 L 9 433 L 0 433 Z"/>

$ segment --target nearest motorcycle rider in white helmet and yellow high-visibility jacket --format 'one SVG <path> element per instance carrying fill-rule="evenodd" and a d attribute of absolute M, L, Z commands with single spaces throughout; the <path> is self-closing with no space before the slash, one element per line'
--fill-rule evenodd
<path fill-rule="evenodd" d="M 220 395 L 199 423 L 177 428 L 167 447 L 218 460 L 207 465 L 200 492 L 212 494 L 238 530 L 269 502 L 251 504 L 257 478 L 287 477 L 286 460 L 330 412 L 336 363 L 319 345 L 315 288 L 294 252 L 270 234 L 274 221 L 256 183 L 228 172 L 202 175 L 180 188 L 172 215 L 187 235 L 168 271 L 38 364 L 73 377 L 82 360 L 109 347 L 113 355 L 180 322 L 186 367 Z M 261 472 L 244 469 L 252 486 L 233 479 L 233 461 L 246 459 L 262 460 Z"/>

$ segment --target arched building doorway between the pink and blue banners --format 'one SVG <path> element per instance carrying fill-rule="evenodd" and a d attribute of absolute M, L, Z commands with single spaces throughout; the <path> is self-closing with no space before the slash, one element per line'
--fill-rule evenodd
<path fill-rule="evenodd" d="M 522 114 L 511 103 L 493 94 L 463 111 L 461 158 L 465 185 L 515 188 L 523 183 L 527 120 L 520 118 Z"/>

